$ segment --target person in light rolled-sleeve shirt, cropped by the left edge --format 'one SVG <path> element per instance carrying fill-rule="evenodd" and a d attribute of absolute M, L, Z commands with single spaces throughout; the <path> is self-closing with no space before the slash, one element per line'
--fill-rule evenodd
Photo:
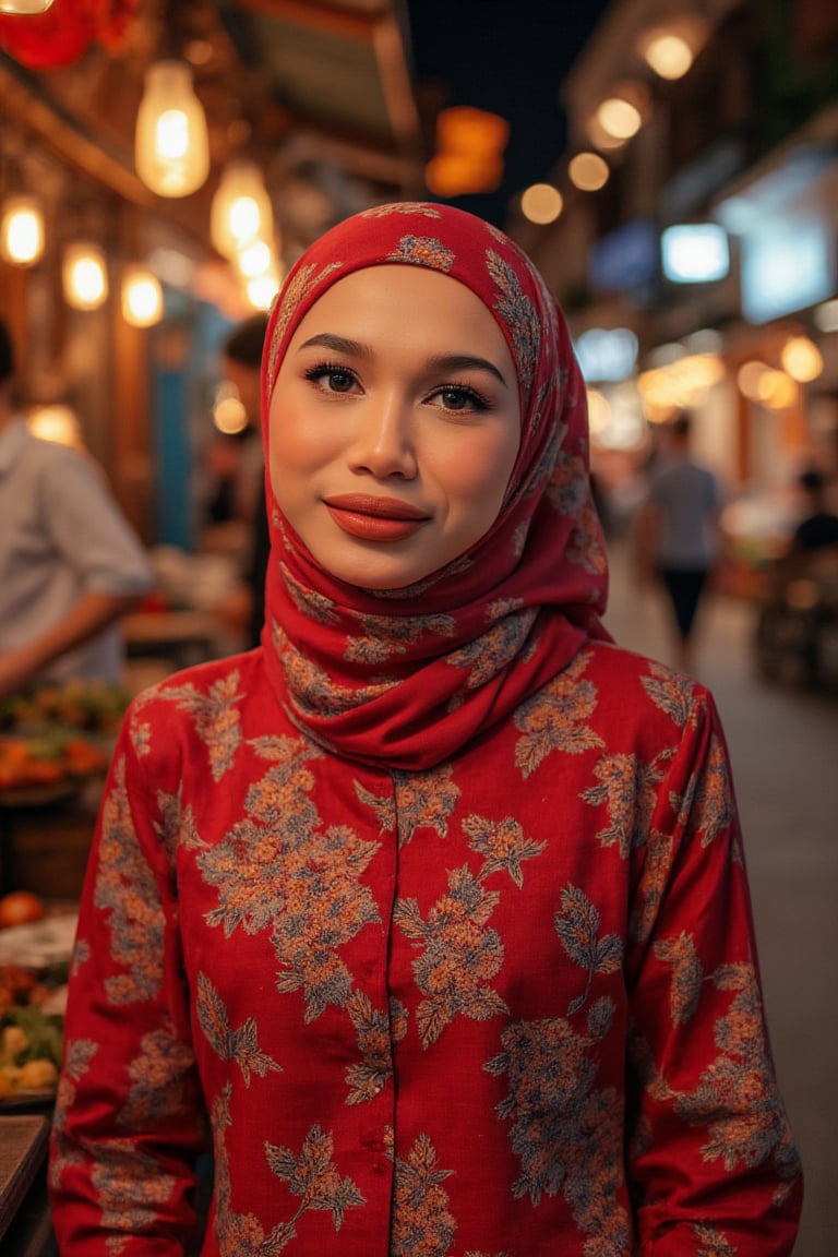
<path fill-rule="evenodd" d="M 14 376 L 0 322 L 0 696 L 41 681 L 118 685 L 118 621 L 155 573 L 95 463 L 29 431 Z"/>

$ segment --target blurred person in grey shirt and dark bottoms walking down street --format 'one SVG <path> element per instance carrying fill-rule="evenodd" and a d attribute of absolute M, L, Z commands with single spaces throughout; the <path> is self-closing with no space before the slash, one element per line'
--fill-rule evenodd
<path fill-rule="evenodd" d="M 719 478 L 690 454 L 686 410 L 665 425 L 667 449 L 651 474 L 638 518 L 642 571 L 657 576 L 671 606 L 675 659 L 694 667 L 699 608 L 719 557 Z"/>

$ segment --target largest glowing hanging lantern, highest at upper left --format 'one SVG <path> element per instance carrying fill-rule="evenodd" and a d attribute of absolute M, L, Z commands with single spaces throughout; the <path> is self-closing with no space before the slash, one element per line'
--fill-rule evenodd
<path fill-rule="evenodd" d="M 210 172 L 210 142 L 186 62 L 156 62 L 146 70 L 137 112 L 137 173 L 158 196 L 188 196 Z"/>

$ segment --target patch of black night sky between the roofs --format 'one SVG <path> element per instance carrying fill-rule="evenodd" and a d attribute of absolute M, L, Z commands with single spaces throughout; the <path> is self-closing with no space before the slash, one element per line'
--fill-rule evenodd
<path fill-rule="evenodd" d="M 565 147 L 562 80 L 609 0 L 411 0 L 415 73 L 442 108 L 511 124 L 498 192 L 456 204 L 503 226 L 511 197 L 547 180 Z"/>

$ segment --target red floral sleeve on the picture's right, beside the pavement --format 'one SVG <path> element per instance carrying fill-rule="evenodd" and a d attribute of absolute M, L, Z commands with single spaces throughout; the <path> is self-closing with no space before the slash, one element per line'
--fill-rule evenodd
<path fill-rule="evenodd" d="M 700 690 L 657 792 L 629 943 L 641 1252 L 786 1257 L 800 1168 L 763 1013 L 729 755 Z"/>

